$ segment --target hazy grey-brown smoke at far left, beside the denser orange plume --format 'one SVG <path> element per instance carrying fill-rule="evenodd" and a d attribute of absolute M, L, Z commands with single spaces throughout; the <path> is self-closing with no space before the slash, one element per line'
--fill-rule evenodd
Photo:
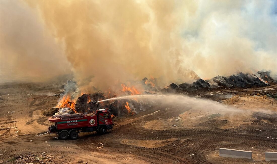
<path fill-rule="evenodd" d="M 37 14 L 22 1 L 0 1 L 1 82 L 44 81 L 70 70 L 62 47 Z"/>

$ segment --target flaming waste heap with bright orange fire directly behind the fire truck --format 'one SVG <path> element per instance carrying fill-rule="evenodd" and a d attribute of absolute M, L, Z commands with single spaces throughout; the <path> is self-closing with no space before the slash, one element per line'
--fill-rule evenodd
<path fill-rule="evenodd" d="M 72 85 L 72 83 L 74 83 L 75 85 Z M 68 85 L 70 85 L 70 87 Z M 126 84 L 121 84 L 121 86 L 122 91 L 120 95 L 141 94 L 141 92 L 139 92 L 138 89 L 136 89 L 134 86 L 129 86 Z M 117 96 L 112 95 L 111 92 L 107 92 L 107 94 L 104 94 L 98 91 L 93 94 L 80 94 L 77 91 L 76 82 L 72 80 L 68 80 L 68 82 L 62 87 L 64 89 L 57 106 L 45 110 L 43 112 L 43 115 L 66 115 L 84 112 L 94 113 L 98 109 L 108 108 L 113 117 L 122 117 L 124 115 L 134 115 L 135 113 L 138 113 L 140 110 L 145 110 L 151 106 L 147 102 L 139 102 L 135 98 L 113 100 L 112 98 L 115 98 Z M 72 89 L 72 87 L 75 89 Z M 70 90 L 68 90 L 68 88 L 70 88 Z M 81 96 L 75 98 L 76 95 Z M 108 100 L 106 101 L 106 99 Z M 98 105 L 95 105 L 95 101 L 100 102 L 98 103 Z"/>

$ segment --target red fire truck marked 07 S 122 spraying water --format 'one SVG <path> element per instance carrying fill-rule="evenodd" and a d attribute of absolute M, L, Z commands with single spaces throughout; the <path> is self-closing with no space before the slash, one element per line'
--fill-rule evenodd
<path fill-rule="evenodd" d="M 70 137 L 75 140 L 80 132 L 107 133 L 113 127 L 111 112 L 108 109 L 99 109 L 94 113 L 75 113 L 68 115 L 56 115 L 48 118 L 55 122 L 48 128 L 49 134 L 57 134 L 62 140 Z"/>

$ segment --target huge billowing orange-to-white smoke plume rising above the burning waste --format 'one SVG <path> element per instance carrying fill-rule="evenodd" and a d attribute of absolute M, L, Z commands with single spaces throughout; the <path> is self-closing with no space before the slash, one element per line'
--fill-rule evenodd
<path fill-rule="evenodd" d="M 169 84 L 277 72 L 275 1 L 25 2 L 87 92 L 150 76 Z"/>

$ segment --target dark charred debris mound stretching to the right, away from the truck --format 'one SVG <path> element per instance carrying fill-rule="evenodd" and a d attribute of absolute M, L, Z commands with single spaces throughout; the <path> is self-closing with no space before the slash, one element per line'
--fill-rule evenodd
<path fill-rule="evenodd" d="M 213 88 L 251 88 L 269 86 L 270 82 L 277 83 L 271 76 L 270 71 L 258 71 L 257 74 L 238 72 L 230 76 L 216 76 L 209 80 L 198 79 L 192 84 L 170 84 L 162 89 L 162 92 L 186 92 L 197 90 L 211 90 Z"/>

